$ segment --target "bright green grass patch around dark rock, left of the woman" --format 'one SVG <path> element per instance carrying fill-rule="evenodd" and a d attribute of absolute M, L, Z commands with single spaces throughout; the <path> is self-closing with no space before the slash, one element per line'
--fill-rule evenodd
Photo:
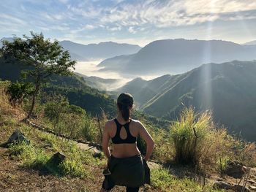
<path fill-rule="evenodd" d="M 51 134 L 40 131 L 31 132 L 31 128 L 23 126 L 20 128 L 29 138 L 39 137 L 40 142 L 33 141 L 31 145 L 21 142 L 11 145 L 9 153 L 13 159 L 20 161 L 21 166 L 28 169 L 39 170 L 43 174 L 53 174 L 59 177 L 90 177 L 87 166 L 103 165 L 106 162 L 94 158 L 90 151 L 80 150 L 75 142 L 60 139 Z M 47 144 L 47 145 L 46 145 Z M 42 146 L 47 146 L 45 147 Z M 66 155 L 65 160 L 56 166 L 51 163 L 50 157 L 56 151 Z"/>

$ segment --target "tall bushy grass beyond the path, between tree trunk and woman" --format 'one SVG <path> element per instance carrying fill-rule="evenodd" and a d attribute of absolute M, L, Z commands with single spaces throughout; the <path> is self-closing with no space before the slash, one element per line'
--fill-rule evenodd
<path fill-rule="evenodd" d="M 96 120 L 85 110 L 70 105 L 67 99 L 48 101 L 45 104 L 45 122 L 59 134 L 73 139 L 99 140 L 99 128 Z"/>

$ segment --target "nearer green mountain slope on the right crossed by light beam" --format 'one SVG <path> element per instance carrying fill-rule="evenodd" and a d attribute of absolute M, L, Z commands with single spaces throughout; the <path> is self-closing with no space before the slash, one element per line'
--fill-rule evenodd
<path fill-rule="evenodd" d="M 184 106 L 211 110 L 215 122 L 256 141 L 255 74 L 256 61 L 203 64 L 184 74 L 140 80 L 140 85 L 133 80 L 118 90 L 132 93 L 143 112 L 168 120 L 178 118 Z"/>

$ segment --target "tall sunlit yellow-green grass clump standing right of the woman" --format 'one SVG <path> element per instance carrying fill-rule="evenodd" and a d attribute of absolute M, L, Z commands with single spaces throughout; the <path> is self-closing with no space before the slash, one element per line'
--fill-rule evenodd
<path fill-rule="evenodd" d="M 233 158 L 234 139 L 217 128 L 210 112 L 196 113 L 192 107 L 181 112 L 170 128 L 175 161 L 181 164 L 217 164 L 219 158 Z"/>

